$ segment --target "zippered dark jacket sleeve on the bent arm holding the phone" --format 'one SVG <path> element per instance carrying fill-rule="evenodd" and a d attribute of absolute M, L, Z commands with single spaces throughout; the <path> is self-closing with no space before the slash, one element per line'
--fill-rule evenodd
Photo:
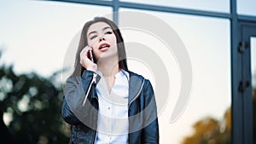
<path fill-rule="evenodd" d="M 95 72 L 84 70 L 82 77 L 67 78 L 61 114 L 68 124 L 80 124 L 88 116 L 90 102 L 86 102 L 84 106 L 83 102 L 88 101 L 92 96 L 86 97 L 86 94 L 90 91 L 95 74 Z"/>

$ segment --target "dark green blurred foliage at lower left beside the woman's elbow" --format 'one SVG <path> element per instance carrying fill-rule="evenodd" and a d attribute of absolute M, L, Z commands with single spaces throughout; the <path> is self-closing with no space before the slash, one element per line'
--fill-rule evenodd
<path fill-rule="evenodd" d="M 61 118 L 62 89 L 36 73 L 16 75 L 0 67 L 0 138 L 7 143 L 68 143 L 69 126 Z M 3 124 L 3 113 L 12 117 Z"/>

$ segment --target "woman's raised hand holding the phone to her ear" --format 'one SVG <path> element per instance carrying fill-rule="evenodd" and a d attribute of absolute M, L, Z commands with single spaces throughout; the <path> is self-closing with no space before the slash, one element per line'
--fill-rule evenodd
<path fill-rule="evenodd" d="M 88 53 L 92 50 L 91 47 L 86 46 L 84 49 L 82 49 L 81 53 L 80 53 L 80 64 L 86 69 L 86 70 L 90 70 L 93 72 L 96 72 L 97 70 L 97 65 L 96 63 L 94 63 L 93 59 L 90 60 L 88 58 Z M 90 55 L 92 57 L 92 55 Z"/>

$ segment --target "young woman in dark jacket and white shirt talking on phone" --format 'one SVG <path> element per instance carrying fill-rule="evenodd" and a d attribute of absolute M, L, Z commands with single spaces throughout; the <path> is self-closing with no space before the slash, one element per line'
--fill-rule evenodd
<path fill-rule="evenodd" d="M 119 28 L 103 17 L 85 23 L 75 69 L 64 89 L 62 117 L 70 143 L 159 143 L 154 90 L 130 72 Z"/>

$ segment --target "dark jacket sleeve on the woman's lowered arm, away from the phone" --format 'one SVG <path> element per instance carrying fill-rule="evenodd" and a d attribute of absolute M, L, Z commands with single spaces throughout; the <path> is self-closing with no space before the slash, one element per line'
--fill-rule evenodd
<path fill-rule="evenodd" d="M 145 81 L 144 89 L 145 103 L 147 108 L 144 109 L 144 128 L 142 130 L 142 143 L 158 144 L 159 143 L 159 125 L 157 118 L 157 107 L 154 98 L 154 90 L 151 83 Z"/>

